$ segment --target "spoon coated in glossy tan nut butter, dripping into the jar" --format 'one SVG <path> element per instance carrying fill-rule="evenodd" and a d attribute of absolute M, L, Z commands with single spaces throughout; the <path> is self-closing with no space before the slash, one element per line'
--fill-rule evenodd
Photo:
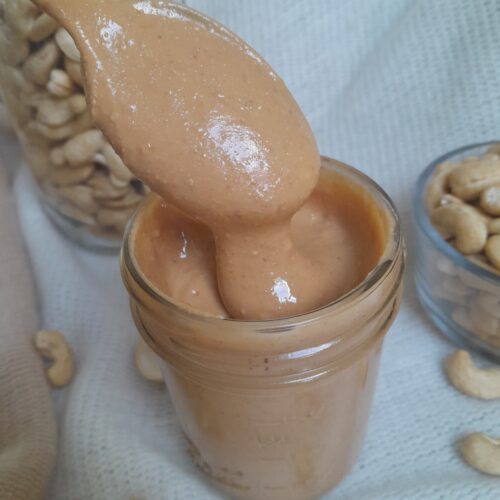
<path fill-rule="evenodd" d="M 92 117 L 126 165 L 214 233 L 235 318 L 306 312 L 328 283 L 291 238 L 316 142 L 282 80 L 215 21 L 162 1 L 37 0 L 82 54 Z"/>

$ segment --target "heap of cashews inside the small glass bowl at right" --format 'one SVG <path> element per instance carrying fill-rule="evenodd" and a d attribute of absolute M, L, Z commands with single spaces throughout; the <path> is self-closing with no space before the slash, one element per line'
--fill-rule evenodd
<path fill-rule="evenodd" d="M 431 177 L 429 218 L 460 253 L 500 276 L 500 145 L 478 158 L 443 163 Z M 500 348 L 500 287 L 443 255 L 429 262 L 431 293 L 453 306 L 452 320 L 479 341 Z"/>

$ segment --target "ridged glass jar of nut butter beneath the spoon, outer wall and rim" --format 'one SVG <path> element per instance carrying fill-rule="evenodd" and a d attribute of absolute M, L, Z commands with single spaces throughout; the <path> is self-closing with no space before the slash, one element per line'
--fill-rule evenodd
<path fill-rule="evenodd" d="M 328 158 L 380 208 L 386 250 L 365 280 L 308 314 L 221 319 L 169 300 L 142 275 L 129 223 L 121 269 L 139 332 L 161 358 L 196 464 L 231 498 L 317 497 L 348 473 L 363 442 L 382 341 L 399 308 L 404 250 L 386 194 Z"/>

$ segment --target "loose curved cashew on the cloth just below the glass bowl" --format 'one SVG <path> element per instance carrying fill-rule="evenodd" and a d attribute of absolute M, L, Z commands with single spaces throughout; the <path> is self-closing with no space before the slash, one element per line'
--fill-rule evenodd
<path fill-rule="evenodd" d="M 476 368 L 467 351 L 455 351 L 447 359 L 446 373 L 453 386 L 467 396 L 479 399 L 500 398 L 500 369 Z"/>

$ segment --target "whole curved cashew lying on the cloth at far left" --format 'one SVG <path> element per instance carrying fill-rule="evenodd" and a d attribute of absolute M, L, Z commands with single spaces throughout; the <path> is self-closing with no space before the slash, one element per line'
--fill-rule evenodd
<path fill-rule="evenodd" d="M 47 379 L 54 387 L 68 384 L 73 377 L 73 357 L 61 332 L 40 330 L 35 335 L 35 347 L 46 359 L 52 361 Z"/>

